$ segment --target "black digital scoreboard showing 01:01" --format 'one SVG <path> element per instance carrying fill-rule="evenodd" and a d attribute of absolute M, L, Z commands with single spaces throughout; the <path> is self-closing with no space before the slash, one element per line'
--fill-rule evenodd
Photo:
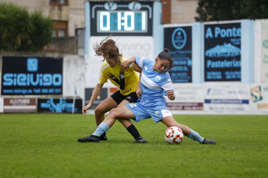
<path fill-rule="evenodd" d="M 152 2 L 90 2 L 91 36 L 152 36 Z"/>

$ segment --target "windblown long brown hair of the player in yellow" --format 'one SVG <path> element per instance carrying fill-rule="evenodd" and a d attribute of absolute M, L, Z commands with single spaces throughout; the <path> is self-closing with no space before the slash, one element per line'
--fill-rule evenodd
<path fill-rule="evenodd" d="M 116 42 L 112 39 L 109 39 L 112 34 L 107 36 L 105 39 L 101 40 L 96 46 L 94 50 L 96 52 L 96 56 L 109 56 L 109 60 L 111 63 L 120 64 L 120 58 L 123 57 L 122 53 L 119 53 L 118 47 L 116 46 Z M 105 59 L 103 59 L 104 61 Z"/>

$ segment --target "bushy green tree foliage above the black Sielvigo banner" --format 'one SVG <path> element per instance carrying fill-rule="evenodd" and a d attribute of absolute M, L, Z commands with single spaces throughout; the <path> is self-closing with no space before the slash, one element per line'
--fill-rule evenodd
<path fill-rule="evenodd" d="M 52 41 L 52 19 L 25 7 L 0 4 L 0 51 L 37 51 Z"/>

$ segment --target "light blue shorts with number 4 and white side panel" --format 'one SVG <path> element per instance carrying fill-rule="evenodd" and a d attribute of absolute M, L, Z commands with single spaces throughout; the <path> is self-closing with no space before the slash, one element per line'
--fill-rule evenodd
<path fill-rule="evenodd" d="M 125 104 L 135 115 L 135 122 L 143 119 L 153 118 L 158 123 L 166 116 L 172 116 L 166 104 L 163 101 L 140 101 L 138 103 Z"/>

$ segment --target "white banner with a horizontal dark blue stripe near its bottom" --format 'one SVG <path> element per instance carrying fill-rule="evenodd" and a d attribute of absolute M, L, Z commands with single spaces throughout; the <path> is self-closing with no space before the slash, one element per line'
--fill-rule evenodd
<path fill-rule="evenodd" d="M 204 110 L 207 112 L 250 111 L 249 85 L 205 86 Z"/>

